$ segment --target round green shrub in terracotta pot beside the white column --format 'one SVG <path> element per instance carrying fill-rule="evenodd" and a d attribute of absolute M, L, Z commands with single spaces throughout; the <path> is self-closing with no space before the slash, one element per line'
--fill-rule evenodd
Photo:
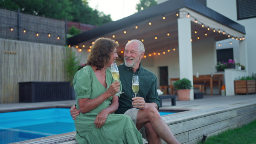
<path fill-rule="evenodd" d="M 183 78 L 174 82 L 174 87 L 177 89 L 178 100 L 179 101 L 189 101 L 190 89 L 192 88 L 192 83 L 189 79 Z"/>

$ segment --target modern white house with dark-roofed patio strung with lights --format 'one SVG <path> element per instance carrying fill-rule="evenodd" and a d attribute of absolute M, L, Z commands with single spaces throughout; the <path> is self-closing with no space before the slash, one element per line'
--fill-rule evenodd
<path fill-rule="evenodd" d="M 193 75 L 197 73 L 220 73 L 225 77 L 226 94 L 234 95 L 233 80 L 256 72 L 256 58 L 253 56 L 256 54 L 253 47 L 255 13 L 254 18 L 238 20 L 236 3 L 242 1 L 158 0 L 156 6 L 70 37 L 67 43 L 82 49 L 77 54 L 83 56 L 81 62 L 84 63 L 89 46 L 98 37 L 116 40 L 120 45 L 120 57 L 123 57 L 128 40 L 141 40 L 145 46 L 142 66 L 157 76 L 159 86 L 170 85 L 170 78 L 193 81 Z M 236 43 L 233 58 L 245 65 L 246 70 L 217 72 L 216 43 L 230 41 L 230 38 L 236 41 L 233 42 Z M 233 45 L 227 48 L 233 48 Z M 164 78 L 163 73 L 166 73 Z M 190 99 L 193 99 L 193 92 L 191 90 Z"/>

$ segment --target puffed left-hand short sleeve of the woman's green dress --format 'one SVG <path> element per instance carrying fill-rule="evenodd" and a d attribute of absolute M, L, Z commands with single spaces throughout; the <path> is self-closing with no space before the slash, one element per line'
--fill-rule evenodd
<path fill-rule="evenodd" d="M 76 98 L 90 98 L 91 96 L 91 73 L 84 67 L 79 70 L 73 80 Z"/>

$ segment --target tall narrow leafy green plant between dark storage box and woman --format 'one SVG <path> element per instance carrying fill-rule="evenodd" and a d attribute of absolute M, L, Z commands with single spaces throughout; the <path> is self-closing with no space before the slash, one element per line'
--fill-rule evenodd
<path fill-rule="evenodd" d="M 66 59 L 64 59 L 64 66 L 67 72 L 67 80 L 70 81 L 71 86 L 71 99 L 76 99 L 76 94 L 73 88 L 73 79 L 78 71 L 80 65 L 79 60 L 76 58 L 76 53 L 66 46 Z"/>

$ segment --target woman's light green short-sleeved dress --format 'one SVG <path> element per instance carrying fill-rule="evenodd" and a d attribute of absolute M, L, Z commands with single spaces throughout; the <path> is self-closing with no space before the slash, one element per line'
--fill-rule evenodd
<path fill-rule="evenodd" d="M 114 82 L 111 72 L 106 70 L 108 87 Z M 97 98 L 107 89 L 96 78 L 91 66 L 79 70 L 73 80 L 76 92 L 76 108 L 78 99 Z M 118 95 L 119 96 L 119 95 Z M 128 115 L 110 114 L 101 128 L 96 128 L 94 121 L 102 109 L 110 106 L 112 96 L 98 107 L 85 114 L 80 114 L 75 120 L 76 141 L 79 144 L 143 144 L 142 135 Z"/>

